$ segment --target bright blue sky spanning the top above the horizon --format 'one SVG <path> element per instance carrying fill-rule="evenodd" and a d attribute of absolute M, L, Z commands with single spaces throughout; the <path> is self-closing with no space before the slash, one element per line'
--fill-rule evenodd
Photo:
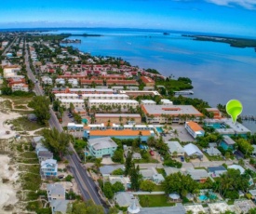
<path fill-rule="evenodd" d="M 8 0 L 0 28 L 125 27 L 256 35 L 256 0 Z"/>

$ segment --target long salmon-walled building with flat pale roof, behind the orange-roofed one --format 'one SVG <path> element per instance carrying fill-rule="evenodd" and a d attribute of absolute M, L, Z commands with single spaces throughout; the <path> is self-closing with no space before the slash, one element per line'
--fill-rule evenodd
<path fill-rule="evenodd" d="M 141 114 L 95 114 L 95 123 L 141 124 Z"/>

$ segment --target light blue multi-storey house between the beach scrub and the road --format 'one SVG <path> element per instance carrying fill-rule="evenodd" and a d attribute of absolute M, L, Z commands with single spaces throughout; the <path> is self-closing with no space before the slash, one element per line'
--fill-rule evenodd
<path fill-rule="evenodd" d="M 41 162 L 40 174 L 43 178 L 56 177 L 58 175 L 57 160 L 48 159 Z"/>

